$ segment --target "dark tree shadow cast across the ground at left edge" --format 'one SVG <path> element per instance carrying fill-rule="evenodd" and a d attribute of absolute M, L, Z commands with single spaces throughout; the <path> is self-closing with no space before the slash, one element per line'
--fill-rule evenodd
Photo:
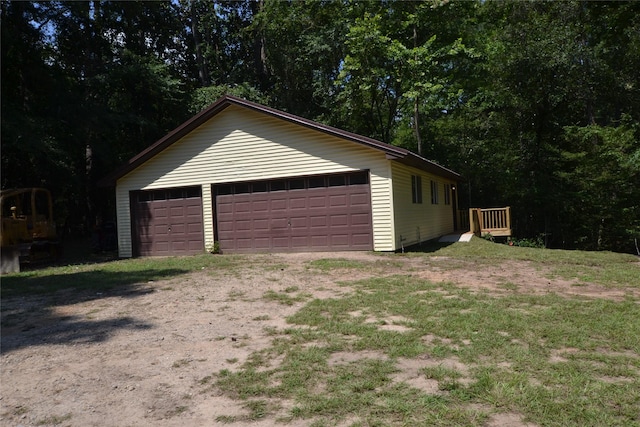
<path fill-rule="evenodd" d="M 88 316 L 64 315 L 56 308 L 107 297 L 140 297 L 155 292 L 149 281 L 187 272 L 168 268 L 3 277 L 0 352 L 37 345 L 101 342 L 121 329 L 151 328 L 151 324 L 132 317 L 91 320 Z"/>

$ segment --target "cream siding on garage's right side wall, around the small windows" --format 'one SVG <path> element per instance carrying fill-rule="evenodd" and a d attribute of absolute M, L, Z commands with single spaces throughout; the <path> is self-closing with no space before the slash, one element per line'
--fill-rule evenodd
<path fill-rule="evenodd" d="M 394 230 L 398 248 L 452 233 L 453 208 L 444 203 L 444 184 L 454 181 L 419 169 L 392 163 Z M 422 203 L 411 198 L 411 175 L 422 177 Z M 438 204 L 431 204 L 431 181 L 438 185 Z"/>

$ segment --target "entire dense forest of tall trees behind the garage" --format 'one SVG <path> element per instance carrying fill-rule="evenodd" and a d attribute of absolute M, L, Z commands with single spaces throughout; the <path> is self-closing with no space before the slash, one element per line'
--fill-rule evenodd
<path fill-rule="evenodd" d="M 1 186 L 67 228 L 225 93 L 420 153 L 516 237 L 635 253 L 640 2 L 2 1 Z M 82 228 L 81 227 L 81 228 Z"/>

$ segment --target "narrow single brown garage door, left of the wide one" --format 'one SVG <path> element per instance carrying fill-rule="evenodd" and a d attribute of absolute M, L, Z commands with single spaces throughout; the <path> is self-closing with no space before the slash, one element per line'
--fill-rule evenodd
<path fill-rule="evenodd" d="M 200 187 L 131 193 L 135 256 L 204 251 Z"/>

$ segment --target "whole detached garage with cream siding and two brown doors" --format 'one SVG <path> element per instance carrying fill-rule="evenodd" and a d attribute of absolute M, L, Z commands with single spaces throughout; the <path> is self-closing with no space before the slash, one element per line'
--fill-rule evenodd
<path fill-rule="evenodd" d="M 102 181 L 121 257 L 393 251 L 455 229 L 460 176 L 408 150 L 232 96 Z"/>

